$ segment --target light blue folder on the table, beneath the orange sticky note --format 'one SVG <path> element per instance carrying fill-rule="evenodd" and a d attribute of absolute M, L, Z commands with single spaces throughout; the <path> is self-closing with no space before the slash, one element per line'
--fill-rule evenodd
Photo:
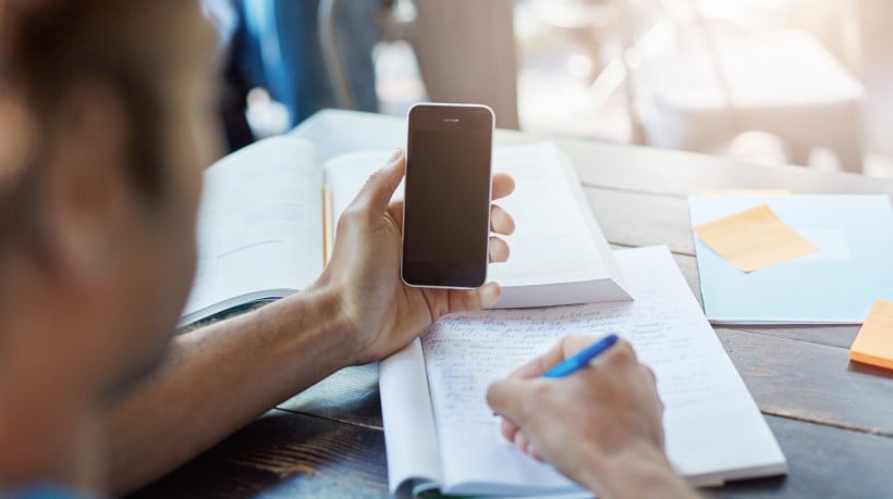
<path fill-rule="evenodd" d="M 893 300 L 886 196 L 692 196 L 692 225 L 768 204 L 819 252 L 744 273 L 696 235 L 705 314 L 717 324 L 861 324 Z"/>

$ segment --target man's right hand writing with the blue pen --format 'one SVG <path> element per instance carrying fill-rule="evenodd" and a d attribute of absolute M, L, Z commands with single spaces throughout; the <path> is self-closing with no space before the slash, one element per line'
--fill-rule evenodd
<path fill-rule="evenodd" d="M 487 401 L 503 416 L 503 436 L 599 497 L 694 496 L 666 461 L 655 375 L 628 342 L 567 377 L 540 377 L 596 339 L 565 337 L 490 386 Z"/>

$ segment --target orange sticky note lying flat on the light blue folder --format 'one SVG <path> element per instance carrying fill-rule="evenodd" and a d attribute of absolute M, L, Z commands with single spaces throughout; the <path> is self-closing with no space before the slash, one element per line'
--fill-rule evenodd
<path fill-rule="evenodd" d="M 698 225 L 694 230 L 710 249 L 743 272 L 758 271 L 819 251 L 767 204 Z"/>

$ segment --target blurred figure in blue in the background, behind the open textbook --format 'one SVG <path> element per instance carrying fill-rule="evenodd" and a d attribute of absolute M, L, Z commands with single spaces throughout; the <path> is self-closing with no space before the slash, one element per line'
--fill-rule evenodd
<path fill-rule="evenodd" d="M 378 110 L 372 49 L 381 38 L 377 17 L 388 1 L 338 3 L 334 36 L 345 48 L 344 68 L 356 109 Z M 248 90 L 265 88 L 294 127 L 313 113 L 338 108 L 319 41 L 320 0 L 203 0 L 221 35 L 225 62 L 222 114 L 229 149 L 254 140 L 245 120 Z"/>

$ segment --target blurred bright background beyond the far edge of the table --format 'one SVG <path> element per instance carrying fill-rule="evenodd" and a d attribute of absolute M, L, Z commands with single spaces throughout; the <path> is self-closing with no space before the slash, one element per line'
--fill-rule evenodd
<path fill-rule="evenodd" d="M 231 148 L 325 108 L 893 177 L 889 0 L 206 0 Z"/>

